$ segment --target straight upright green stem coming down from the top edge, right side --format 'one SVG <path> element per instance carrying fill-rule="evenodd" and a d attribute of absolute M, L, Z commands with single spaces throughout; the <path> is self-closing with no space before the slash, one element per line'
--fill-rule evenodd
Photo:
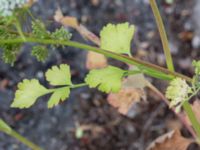
<path fill-rule="evenodd" d="M 167 34 L 165 31 L 164 24 L 163 24 L 162 18 L 160 16 L 160 12 L 159 12 L 158 6 L 156 4 L 156 1 L 150 0 L 150 5 L 153 10 L 153 14 L 156 19 L 156 23 L 157 23 L 158 30 L 160 33 L 160 37 L 161 37 L 161 41 L 162 41 L 162 45 L 163 45 L 163 49 L 164 49 L 164 53 L 165 53 L 167 68 L 171 71 L 174 71 L 174 65 L 173 65 L 172 56 L 171 56 L 171 52 L 170 52 L 169 42 L 167 39 Z"/>

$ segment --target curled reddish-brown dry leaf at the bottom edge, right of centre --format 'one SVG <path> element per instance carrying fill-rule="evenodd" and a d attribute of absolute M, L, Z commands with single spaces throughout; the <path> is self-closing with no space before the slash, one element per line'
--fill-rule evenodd
<path fill-rule="evenodd" d="M 158 137 L 146 150 L 187 150 L 192 142 L 194 140 L 184 138 L 179 130 L 173 130 Z"/>

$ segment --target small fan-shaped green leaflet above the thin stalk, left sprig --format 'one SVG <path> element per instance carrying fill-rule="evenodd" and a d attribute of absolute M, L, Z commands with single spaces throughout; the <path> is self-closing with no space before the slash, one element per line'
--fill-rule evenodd
<path fill-rule="evenodd" d="M 70 68 L 66 64 L 61 64 L 59 67 L 53 66 L 45 76 L 51 85 L 72 85 Z"/>

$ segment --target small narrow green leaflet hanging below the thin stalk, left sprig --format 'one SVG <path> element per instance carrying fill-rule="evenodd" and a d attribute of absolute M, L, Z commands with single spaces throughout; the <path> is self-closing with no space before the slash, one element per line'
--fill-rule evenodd
<path fill-rule="evenodd" d="M 52 108 L 53 106 L 57 105 L 60 101 L 64 101 L 66 98 L 69 97 L 70 88 L 64 87 L 57 89 L 52 95 L 50 100 L 48 101 L 48 108 Z"/>

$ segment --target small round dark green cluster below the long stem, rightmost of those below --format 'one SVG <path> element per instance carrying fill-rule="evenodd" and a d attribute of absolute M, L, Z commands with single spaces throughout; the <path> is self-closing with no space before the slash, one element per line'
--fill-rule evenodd
<path fill-rule="evenodd" d="M 48 57 L 48 49 L 46 46 L 38 45 L 34 46 L 31 52 L 32 56 L 35 56 L 38 61 L 44 62 Z"/>

